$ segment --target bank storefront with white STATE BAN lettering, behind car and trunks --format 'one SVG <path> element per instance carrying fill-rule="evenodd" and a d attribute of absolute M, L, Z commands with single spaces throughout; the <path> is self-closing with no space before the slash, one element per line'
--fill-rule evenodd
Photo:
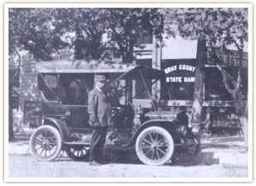
<path fill-rule="evenodd" d="M 148 40 L 147 40 L 148 41 Z M 164 40 L 165 46 L 160 48 L 161 44 L 151 40 L 145 44 L 144 52 L 137 51 L 137 64 L 143 64 L 149 67 L 160 68 L 166 73 L 166 88 L 163 84 L 159 85 L 157 96 L 159 105 L 170 109 L 179 109 L 180 107 L 188 108 L 191 119 L 191 108 L 193 106 L 195 91 L 195 70 L 196 56 L 198 49 L 197 40 L 183 40 L 183 38 L 168 38 Z M 223 61 L 224 69 L 237 77 L 238 68 L 242 67 L 241 90 L 244 100 L 247 100 L 247 48 L 244 49 L 243 61 L 239 63 L 239 54 L 235 47 L 229 48 L 229 54 L 224 54 L 221 48 L 217 49 L 219 58 Z M 203 67 L 200 69 L 204 76 L 203 82 L 203 103 L 201 119 L 207 118 L 207 113 L 211 114 L 214 119 L 214 129 L 218 132 L 237 133 L 241 131 L 241 124 L 236 115 L 232 96 L 226 90 L 222 74 L 212 61 L 202 61 Z M 153 94 L 154 94 L 153 90 Z M 150 101 L 147 97 L 140 97 L 135 100 L 136 104 L 147 105 Z M 245 102 L 246 104 L 246 102 Z"/>

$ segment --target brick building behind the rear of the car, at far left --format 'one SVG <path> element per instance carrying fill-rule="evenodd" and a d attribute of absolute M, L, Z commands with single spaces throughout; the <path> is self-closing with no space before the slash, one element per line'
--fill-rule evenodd
<path fill-rule="evenodd" d="M 61 53 L 62 59 L 69 59 L 72 53 L 64 50 Z M 58 59 L 58 56 L 56 56 Z M 29 118 L 32 110 L 39 107 L 38 98 L 38 73 L 35 64 L 38 62 L 28 51 L 20 51 L 20 74 L 15 78 L 15 84 L 10 99 L 13 105 L 14 131 L 27 130 L 32 121 Z M 9 80 L 18 70 L 18 58 L 15 55 L 9 56 Z"/>

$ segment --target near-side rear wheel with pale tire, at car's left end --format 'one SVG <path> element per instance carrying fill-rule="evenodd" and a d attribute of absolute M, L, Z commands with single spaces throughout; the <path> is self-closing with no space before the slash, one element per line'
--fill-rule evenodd
<path fill-rule="evenodd" d="M 30 137 L 30 150 L 37 160 L 49 161 L 61 152 L 61 134 L 50 125 L 39 126 Z"/>

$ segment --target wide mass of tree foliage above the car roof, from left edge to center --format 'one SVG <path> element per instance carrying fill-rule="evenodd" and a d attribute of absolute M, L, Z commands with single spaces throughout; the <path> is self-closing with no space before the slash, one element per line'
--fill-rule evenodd
<path fill-rule="evenodd" d="M 69 47 L 74 59 L 132 62 L 145 32 L 161 38 L 158 9 L 9 9 L 9 52 L 26 49 L 43 61 Z"/>

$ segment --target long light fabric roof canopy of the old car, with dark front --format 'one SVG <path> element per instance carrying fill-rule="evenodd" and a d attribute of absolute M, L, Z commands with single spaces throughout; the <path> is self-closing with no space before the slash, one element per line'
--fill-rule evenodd
<path fill-rule="evenodd" d="M 36 63 L 38 73 L 122 73 L 122 78 L 135 79 L 143 73 L 145 78 L 159 79 L 164 72 L 140 65 L 105 61 L 43 61 Z"/>

